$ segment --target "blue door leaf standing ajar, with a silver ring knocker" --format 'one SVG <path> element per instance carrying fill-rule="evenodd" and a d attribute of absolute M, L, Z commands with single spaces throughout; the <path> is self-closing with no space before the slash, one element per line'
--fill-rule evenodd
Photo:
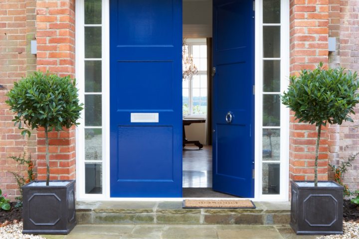
<path fill-rule="evenodd" d="M 213 190 L 254 197 L 253 0 L 213 0 Z"/>

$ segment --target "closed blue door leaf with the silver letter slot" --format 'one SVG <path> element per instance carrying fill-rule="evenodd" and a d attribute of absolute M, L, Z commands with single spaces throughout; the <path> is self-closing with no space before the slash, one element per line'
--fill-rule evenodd
<path fill-rule="evenodd" d="M 181 197 L 181 0 L 110 0 L 111 197 Z"/>

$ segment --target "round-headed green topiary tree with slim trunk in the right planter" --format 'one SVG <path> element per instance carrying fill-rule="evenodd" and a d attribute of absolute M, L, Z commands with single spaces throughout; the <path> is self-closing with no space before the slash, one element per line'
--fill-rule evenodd
<path fill-rule="evenodd" d="M 314 185 L 318 186 L 318 156 L 322 125 L 352 121 L 350 114 L 359 103 L 357 73 L 344 72 L 343 68 L 325 69 L 321 62 L 311 70 L 302 70 L 299 77 L 292 76 L 282 103 L 294 112 L 299 122 L 318 127 Z"/>

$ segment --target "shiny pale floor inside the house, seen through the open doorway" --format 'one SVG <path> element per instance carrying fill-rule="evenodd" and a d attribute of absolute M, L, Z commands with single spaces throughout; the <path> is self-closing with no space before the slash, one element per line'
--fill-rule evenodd
<path fill-rule="evenodd" d="M 183 188 L 212 187 L 212 147 L 183 147 Z"/>

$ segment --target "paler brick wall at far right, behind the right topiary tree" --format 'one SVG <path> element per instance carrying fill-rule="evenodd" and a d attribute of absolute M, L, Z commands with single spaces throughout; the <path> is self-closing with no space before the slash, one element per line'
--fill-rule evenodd
<path fill-rule="evenodd" d="M 359 1 L 332 0 L 330 15 L 330 36 L 337 37 L 337 51 L 331 53 L 331 66 L 341 66 L 351 71 L 359 71 Z M 334 125 L 330 131 L 330 160 L 338 165 L 342 160 L 359 152 L 359 108 L 352 116 L 354 122 Z M 359 158 L 344 174 L 344 183 L 352 191 L 359 189 Z"/>

